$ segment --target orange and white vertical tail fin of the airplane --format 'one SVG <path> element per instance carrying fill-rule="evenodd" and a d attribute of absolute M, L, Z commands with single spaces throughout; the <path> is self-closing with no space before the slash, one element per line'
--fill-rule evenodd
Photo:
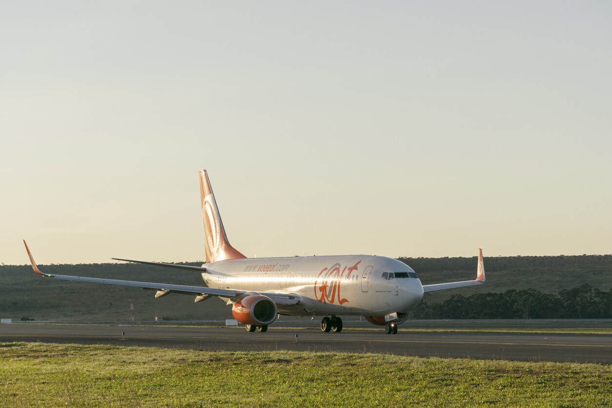
<path fill-rule="evenodd" d="M 200 196 L 202 199 L 202 217 L 204 218 L 206 263 L 223 261 L 224 259 L 247 258 L 228 242 L 206 170 L 200 170 Z"/>

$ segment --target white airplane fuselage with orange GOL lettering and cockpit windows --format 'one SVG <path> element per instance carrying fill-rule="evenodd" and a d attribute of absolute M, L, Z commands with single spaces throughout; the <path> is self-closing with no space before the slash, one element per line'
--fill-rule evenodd
<path fill-rule="evenodd" d="M 407 313 L 423 297 L 414 270 L 383 256 L 243 258 L 203 266 L 209 287 L 296 295 L 297 305 L 278 305 L 289 316 Z M 398 277 L 389 279 L 391 272 Z"/>

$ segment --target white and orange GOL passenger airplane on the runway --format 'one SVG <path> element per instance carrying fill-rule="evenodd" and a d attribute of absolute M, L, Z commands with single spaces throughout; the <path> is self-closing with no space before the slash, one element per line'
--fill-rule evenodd
<path fill-rule="evenodd" d="M 323 316 L 321 330 L 340 333 L 339 316 L 363 316 L 395 334 L 424 292 L 475 286 L 485 282 L 482 249 L 479 249 L 476 280 L 421 284 L 411 267 L 397 259 L 372 255 L 291 256 L 247 258 L 230 245 L 223 228 L 206 170 L 200 170 L 201 209 L 204 220 L 206 263 L 198 266 L 136 262 L 201 274 L 204 286 L 185 286 L 83 276 L 49 275 L 37 267 L 25 240 L 32 269 L 56 280 L 141 287 L 155 298 L 171 293 L 195 296 L 195 302 L 215 296 L 232 306 L 232 314 L 248 332 L 266 332 L 280 315 Z"/>

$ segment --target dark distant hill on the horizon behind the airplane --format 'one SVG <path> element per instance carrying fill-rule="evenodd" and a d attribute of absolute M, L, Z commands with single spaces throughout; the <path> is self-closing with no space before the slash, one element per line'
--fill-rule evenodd
<path fill-rule="evenodd" d="M 476 277 L 473 258 L 400 258 L 416 270 L 423 284 L 471 280 Z M 202 262 L 187 262 L 201 265 Z M 197 272 L 183 272 L 140 264 L 41 265 L 46 273 L 105 277 L 148 282 L 201 284 Z M 602 291 L 612 289 L 612 255 L 513 256 L 485 258 L 487 283 L 425 294 L 428 303 L 442 302 L 453 294 L 537 289 L 556 293 L 588 283 Z M 44 279 L 29 265 L 0 266 L 0 317 L 18 321 L 127 321 L 130 297 L 136 321 L 166 319 L 220 320 L 231 318 L 231 308 L 218 299 L 193 303 L 193 297 L 170 294 L 154 299 L 154 291 L 134 287 Z"/>

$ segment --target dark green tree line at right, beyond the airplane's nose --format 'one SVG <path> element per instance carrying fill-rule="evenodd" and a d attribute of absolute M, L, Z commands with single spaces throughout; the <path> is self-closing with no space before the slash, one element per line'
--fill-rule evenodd
<path fill-rule="evenodd" d="M 536 289 L 452 295 L 441 303 L 424 299 L 411 319 L 612 319 L 612 289 L 589 284 L 546 294 Z"/>

